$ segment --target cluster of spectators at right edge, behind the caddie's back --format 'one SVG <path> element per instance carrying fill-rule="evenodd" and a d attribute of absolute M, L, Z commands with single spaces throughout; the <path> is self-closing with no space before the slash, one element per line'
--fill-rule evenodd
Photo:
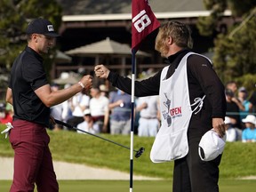
<path fill-rule="evenodd" d="M 234 81 L 226 84 L 227 112 L 225 117 L 227 141 L 256 141 L 256 94 L 249 94 L 244 86 L 237 88 Z"/>

